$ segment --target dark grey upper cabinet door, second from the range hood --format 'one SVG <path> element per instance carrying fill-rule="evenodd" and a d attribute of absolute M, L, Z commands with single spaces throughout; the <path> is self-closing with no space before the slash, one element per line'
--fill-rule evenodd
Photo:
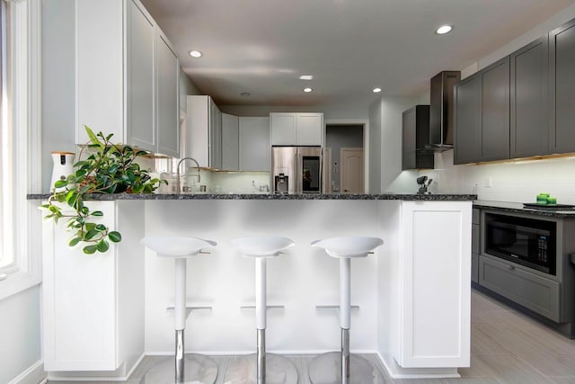
<path fill-rule="evenodd" d="M 509 57 L 482 70 L 482 161 L 509 158 Z"/>

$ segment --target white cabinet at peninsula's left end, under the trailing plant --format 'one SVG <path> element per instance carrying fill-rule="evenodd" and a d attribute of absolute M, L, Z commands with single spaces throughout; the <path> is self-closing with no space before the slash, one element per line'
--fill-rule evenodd
<path fill-rule="evenodd" d="M 52 380 L 66 371 L 125 378 L 144 354 L 144 201 L 86 205 L 102 210 L 94 221 L 119 230 L 122 241 L 84 255 L 81 245 L 67 246 L 65 220 L 44 224 L 43 360 Z"/>

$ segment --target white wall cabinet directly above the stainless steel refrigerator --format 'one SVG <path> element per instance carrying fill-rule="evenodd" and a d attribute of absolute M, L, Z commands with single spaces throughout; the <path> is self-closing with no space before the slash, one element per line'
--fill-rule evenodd
<path fill-rule="evenodd" d="M 270 113 L 272 146 L 321 146 L 323 113 Z"/>

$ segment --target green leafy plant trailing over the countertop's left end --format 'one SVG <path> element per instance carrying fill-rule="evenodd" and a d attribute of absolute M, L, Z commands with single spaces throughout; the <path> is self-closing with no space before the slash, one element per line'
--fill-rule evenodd
<path fill-rule="evenodd" d="M 84 243 L 84 254 L 106 252 L 110 248 L 109 241 L 118 243 L 121 235 L 111 231 L 103 224 L 93 222 L 93 218 L 103 216 L 101 210 L 90 210 L 84 204 L 91 195 L 97 193 L 151 193 L 165 180 L 152 179 L 145 169 L 135 163 L 137 156 L 148 155 L 149 152 L 122 144 L 113 144 L 112 135 L 97 134 L 84 126 L 90 141 L 84 148 L 92 152 L 85 159 L 74 165 L 74 172 L 68 174 L 66 180 L 58 180 L 52 186 L 52 195 L 46 204 L 40 208 L 49 210 L 45 219 L 67 219 L 66 227 L 73 232 L 68 245 L 76 246 Z M 63 210 L 66 205 L 72 212 Z M 68 210 L 66 208 L 66 210 Z"/>

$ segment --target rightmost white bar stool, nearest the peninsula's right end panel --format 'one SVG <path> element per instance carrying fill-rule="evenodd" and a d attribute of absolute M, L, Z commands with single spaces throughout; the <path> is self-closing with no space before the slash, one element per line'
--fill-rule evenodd
<path fill-rule="evenodd" d="M 330 237 L 312 242 L 312 246 L 323 248 L 327 255 L 340 259 L 341 326 L 341 351 L 323 353 L 310 363 L 309 379 L 313 384 L 384 382 L 379 370 L 366 359 L 355 354 L 349 359 L 351 259 L 366 257 L 383 244 L 384 240 L 379 237 Z"/>

